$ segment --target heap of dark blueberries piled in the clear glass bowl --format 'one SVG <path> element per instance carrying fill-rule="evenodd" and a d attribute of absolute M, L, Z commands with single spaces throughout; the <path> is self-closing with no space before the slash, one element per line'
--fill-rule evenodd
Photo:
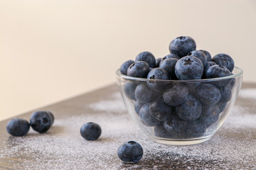
<path fill-rule="evenodd" d="M 121 74 L 143 78 L 126 79 L 124 93 L 134 101 L 139 120 L 154 127 L 157 137 L 201 137 L 217 122 L 235 85 L 231 78 L 210 79 L 232 75 L 234 61 L 223 53 L 211 57 L 206 50 L 196 50 L 195 40 L 188 36 L 172 40 L 169 51 L 157 59 L 141 52 L 135 61 L 124 62 Z M 198 79 L 208 81 L 193 81 Z"/>

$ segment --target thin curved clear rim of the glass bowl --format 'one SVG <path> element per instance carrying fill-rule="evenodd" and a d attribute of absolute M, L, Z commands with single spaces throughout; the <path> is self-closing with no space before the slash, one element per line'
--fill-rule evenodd
<path fill-rule="evenodd" d="M 204 82 L 204 81 L 220 81 L 224 79 L 233 79 L 237 77 L 241 77 L 243 74 L 243 70 L 240 67 L 234 67 L 234 69 L 238 69 L 238 72 L 236 74 L 232 74 L 227 77 L 218 77 L 213 79 L 189 79 L 189 80 L 164 80 L 164 79 L 156 79 L 156 81 L 168 81 L 168 82 Z M 127 75 L 121 74 L 120 69 L 117 69 L 116 74 L 118 77 L 122 77 L 123 79 L 129 79 L 129 80 L 137 80 L 137 81 L 149 81 L 149 79 L 146 78 L 139 78 L 139 77 L 129 77 Z"/>

